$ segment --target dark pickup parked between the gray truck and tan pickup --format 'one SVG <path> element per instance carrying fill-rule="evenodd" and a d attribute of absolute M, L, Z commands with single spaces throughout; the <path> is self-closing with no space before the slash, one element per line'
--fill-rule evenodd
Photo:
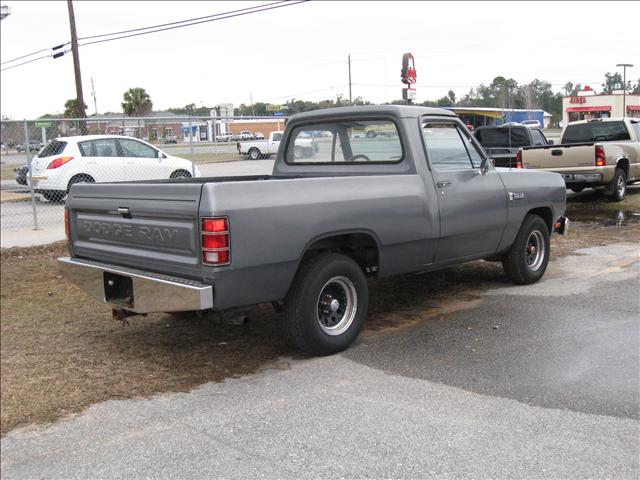
<path fill-rule="evenodd" d="M 474 135 L 496 167 L 516 167 L 516 156 L 520 147 L 553 143 L 551 140 L 547 140 L 541 129 L 518 123 L 507 123 L 496 127 L 478 127 Z"/>

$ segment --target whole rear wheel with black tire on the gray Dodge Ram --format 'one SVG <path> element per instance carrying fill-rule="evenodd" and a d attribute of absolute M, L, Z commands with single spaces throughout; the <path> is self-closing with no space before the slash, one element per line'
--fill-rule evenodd
<path fill-rule="evenodd" d="M 300 266 L 285 300 L 284 319 L 300 350 L 331 355 L 358 337 L 368 306 L 369 288 L 360 266 L 345 255 L 324 253 Z"/>

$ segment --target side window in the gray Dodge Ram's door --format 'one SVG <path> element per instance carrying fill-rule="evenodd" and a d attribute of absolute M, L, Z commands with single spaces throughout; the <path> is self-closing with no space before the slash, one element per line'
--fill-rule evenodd
<path fill-rule="evenodd" d="M 455 124 L 425 123 L 422 134 L 427 146 L 427 157 L 434 169 L 463 170 L 473 168 L 467 148 Z"/>

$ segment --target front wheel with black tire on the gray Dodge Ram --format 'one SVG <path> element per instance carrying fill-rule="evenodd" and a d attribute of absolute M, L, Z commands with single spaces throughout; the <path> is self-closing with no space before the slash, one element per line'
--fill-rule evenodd
<path fill-rule="evenodd" d="M 537 282 L 547 269 L 550 247 L 547 224 L 538 215 L 527 215 L 502 259 L 504 271 L 518 285 Z"/>

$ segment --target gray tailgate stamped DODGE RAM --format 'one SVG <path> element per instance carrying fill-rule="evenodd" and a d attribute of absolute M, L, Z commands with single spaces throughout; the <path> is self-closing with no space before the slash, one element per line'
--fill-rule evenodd
<path fill-rule="evenodd" d="M 74 185 L 70 250 L 80 258 L 200 279 L 202 183 Z"/>

